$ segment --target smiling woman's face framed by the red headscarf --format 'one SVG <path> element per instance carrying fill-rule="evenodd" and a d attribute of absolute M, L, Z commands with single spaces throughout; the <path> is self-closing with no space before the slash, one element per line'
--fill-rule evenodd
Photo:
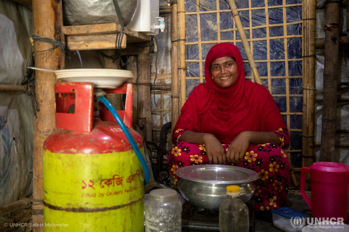
<path fill-rule="evenodd" d="M 211 74 L 219 87 L 228 88 L 238 77 L 238 67 L 233 58 L 224 56 L 212 62 Z"/>

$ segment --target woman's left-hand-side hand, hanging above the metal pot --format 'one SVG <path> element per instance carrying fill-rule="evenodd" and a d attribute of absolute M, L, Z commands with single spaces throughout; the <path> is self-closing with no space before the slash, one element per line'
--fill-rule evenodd
<path fill-rule="evenodd" d="M 221 165 L 227 164 L 227 160 L 225 159 L 224 154 L 224 148 L 221 142 L 219 142 L 218 139 L 211 134 L 206 134 L 203 139 L 205 141 L 205 149 L 206 154 L 208 156 L 208 163 Z"/>

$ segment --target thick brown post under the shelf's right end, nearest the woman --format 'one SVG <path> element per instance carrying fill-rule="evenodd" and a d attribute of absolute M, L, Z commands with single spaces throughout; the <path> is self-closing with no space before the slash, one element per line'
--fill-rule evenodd
<path fill-rule="evenodd" d="M 138 54 L 138 83 L 150 83 L 150 55 Z M 144 139 L 151 141 L 150 85 L 138 86 L 138 126 Z"/>

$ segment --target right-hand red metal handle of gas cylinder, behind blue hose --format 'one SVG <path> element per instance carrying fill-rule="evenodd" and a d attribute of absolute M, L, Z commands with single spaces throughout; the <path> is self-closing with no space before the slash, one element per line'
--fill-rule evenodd
<path fill-rule="evenodd" d="M 128 128 L 132 128 L 132 84 L 124 84 L 116 89 L 109 89 L 107 90 L 108 94 L 126 94 L 126 100 L 125 100 L 125 111 L 124 110 L 117 110 L 118 114 L 122 118 L 122 115 L 124 115 L 124 121 L 125 125 Z M 111 115 L 111 113 L 110 113 Z M 114 117 L 111 116 L 108 117 L 108 121 L 116 121 Z"/>

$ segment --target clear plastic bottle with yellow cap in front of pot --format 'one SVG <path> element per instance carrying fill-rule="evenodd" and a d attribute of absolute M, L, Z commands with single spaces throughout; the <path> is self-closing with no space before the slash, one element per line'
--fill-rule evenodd
<path fill-rule="evenodd" d="M 227 199 L 219 207 L 220 232 L 248 232 L 248 208 L 240 199 L 240 187 L 227 186 Z"/>

